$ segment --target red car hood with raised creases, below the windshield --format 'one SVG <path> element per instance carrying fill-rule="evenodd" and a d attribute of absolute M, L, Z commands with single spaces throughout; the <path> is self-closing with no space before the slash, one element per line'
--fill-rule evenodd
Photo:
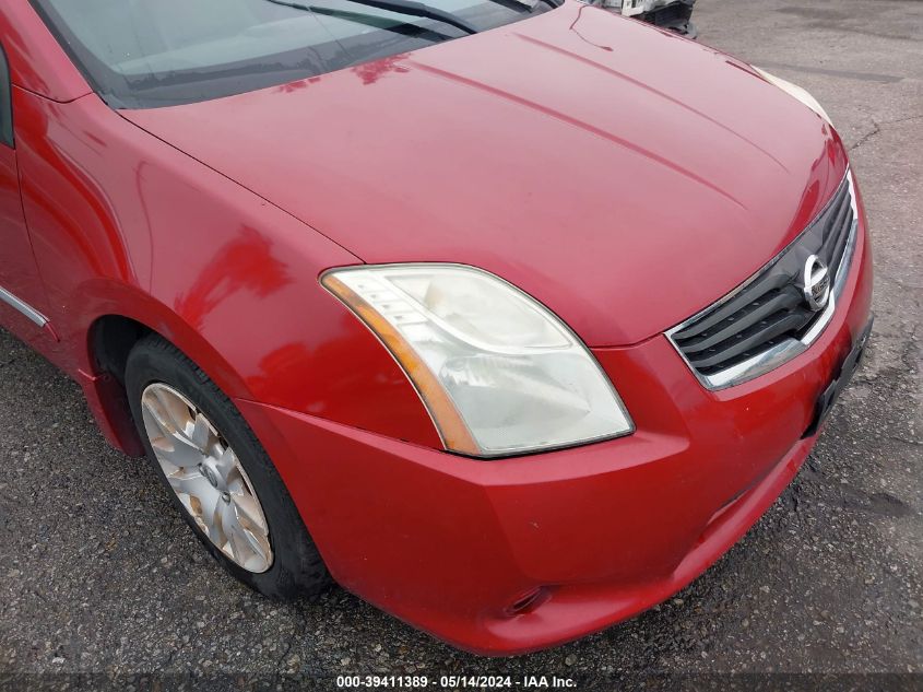
<path fill-rule="evenodd" d="M 847 165 L 826 121 L 744 63 L 572 1 L 319 78 L 120 113 L 363 261 L 482 267 L 594 347 L 732 290 Z"/>

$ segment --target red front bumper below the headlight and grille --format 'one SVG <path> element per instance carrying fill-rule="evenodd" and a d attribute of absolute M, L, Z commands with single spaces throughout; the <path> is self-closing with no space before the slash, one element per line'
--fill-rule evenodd
<path fill-rule="evenodd" d="M 637 432 L 530 457 L 477 461 L 237 403 L 341 585 L 461 648 L 523 653 L 650 608 L 746 532 L 810 450 L 815 402 L 871 294 L 861 219 L 843 298 L 808 351 L 709 391 L 663 336 L 594 350 Z"/>

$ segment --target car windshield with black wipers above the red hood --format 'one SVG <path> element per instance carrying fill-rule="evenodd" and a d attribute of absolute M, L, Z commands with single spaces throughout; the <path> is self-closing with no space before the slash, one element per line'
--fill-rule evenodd
<path fill-rule="evenodd" d="M 109 105 L 123 108 L 191 103 L 284 84 L 468 36 L 557 4 L 557 0 L 32 1 L 93 87 Z"/>

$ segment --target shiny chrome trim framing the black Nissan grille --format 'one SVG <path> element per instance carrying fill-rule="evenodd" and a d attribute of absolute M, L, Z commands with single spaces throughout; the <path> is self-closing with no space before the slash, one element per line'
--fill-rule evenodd
<path fill-rule="evenodd" d="M 788 363 L 792 359 L 807 351 L 810 344 L 814 343 L 817 338 L 820 337 L 821 333 L 824 333 L 824 330 L 827 328 L 827 326 L 830 324 L 830 320 L 833 318 L 833 313 L 837 309 L 837 303 L 839 302 L 843 289 L 845 288 L 847 279 L 849 277 L 850 269 L 852 268 L 852 260 L 853 255 L 855 254 L 855 245 L 857 239 L 859 208 L 855 201 L 855 183 L 851 169 L 847 171 L 845 180 L 847 185 L 849 186 L 850 206 L 852 208 L 852 224 L 849 230 L 845 247 L 843 248 L 842 258 L 840 259 L 839 266 L 837 267 L 837 273 L 833 277 L 833 285 L 830 292 L 829 303 L 827 304 L 826 308 L 824 308 L 824 310 L 820 313 L 820 315 L 815 318 L 814 322 L 801 337 L 801 339 L 788 338 L 781 343 L 778 343 L 754 355 L 753 357 L 747 359 L 746 361 L 743 361 L 715 373 L 703 374 L 700 373 L 693 365 L 688 357 L 686 357 L 686 354 L 683 352 L 683 350 L 679 348 L 678 343 L 674 340 L 673 337 L 677 332 L 695 324 L 703 315 L 712 313 L 720 306 L 733 300 L 737 294 L 744 291 L 754 281 L 761 278 L 765 272 L 770 267 L 772 267 L 782 255 L 784 255 L 793 245 L 797 244 L 797 242 L 803 237 L 802 235 L 798 235 L 798 237 L 795 238 L 785 249 L 783 249 L 779 255 L 777 255 L 772 260 L 770 260 L 765 267 L 754 273 L 744 283 L 734 289 L 731 293 L 725 295 L 717 303 L 713 303 L 705 309 L 696 313 L 687 320 L 683 321 L 682 324 L 677 325 L 676 327 L 672 328 L 666 332 L 666 338 L 670 343 L 673 345 L 674 349 L 676 349 L 676 352 L 686 362 L 686 365 L 689 366 L 689 370 L 693 371 L 693 373 L 696 375 L 702 386 L 711 390 L 726 389 L 727 387 L 741 385 L 745 382 L 754 379 L 755 377 L 765 375 L 766 373 L 776 370 L 780 365 Z M 808 224 L 808 228 L 810 228 L 810 225 L 812 224 Z"/>

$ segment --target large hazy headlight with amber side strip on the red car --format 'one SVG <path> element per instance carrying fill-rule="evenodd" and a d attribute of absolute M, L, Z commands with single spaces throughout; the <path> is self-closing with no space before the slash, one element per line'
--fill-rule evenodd
<path fill-rule="evenodd" d="M 447 449 L 496 457 L 634 430 L 570 329 L 490 273 L 392 265 L 336 269 L 321 282 L 388 347 Z"/>

